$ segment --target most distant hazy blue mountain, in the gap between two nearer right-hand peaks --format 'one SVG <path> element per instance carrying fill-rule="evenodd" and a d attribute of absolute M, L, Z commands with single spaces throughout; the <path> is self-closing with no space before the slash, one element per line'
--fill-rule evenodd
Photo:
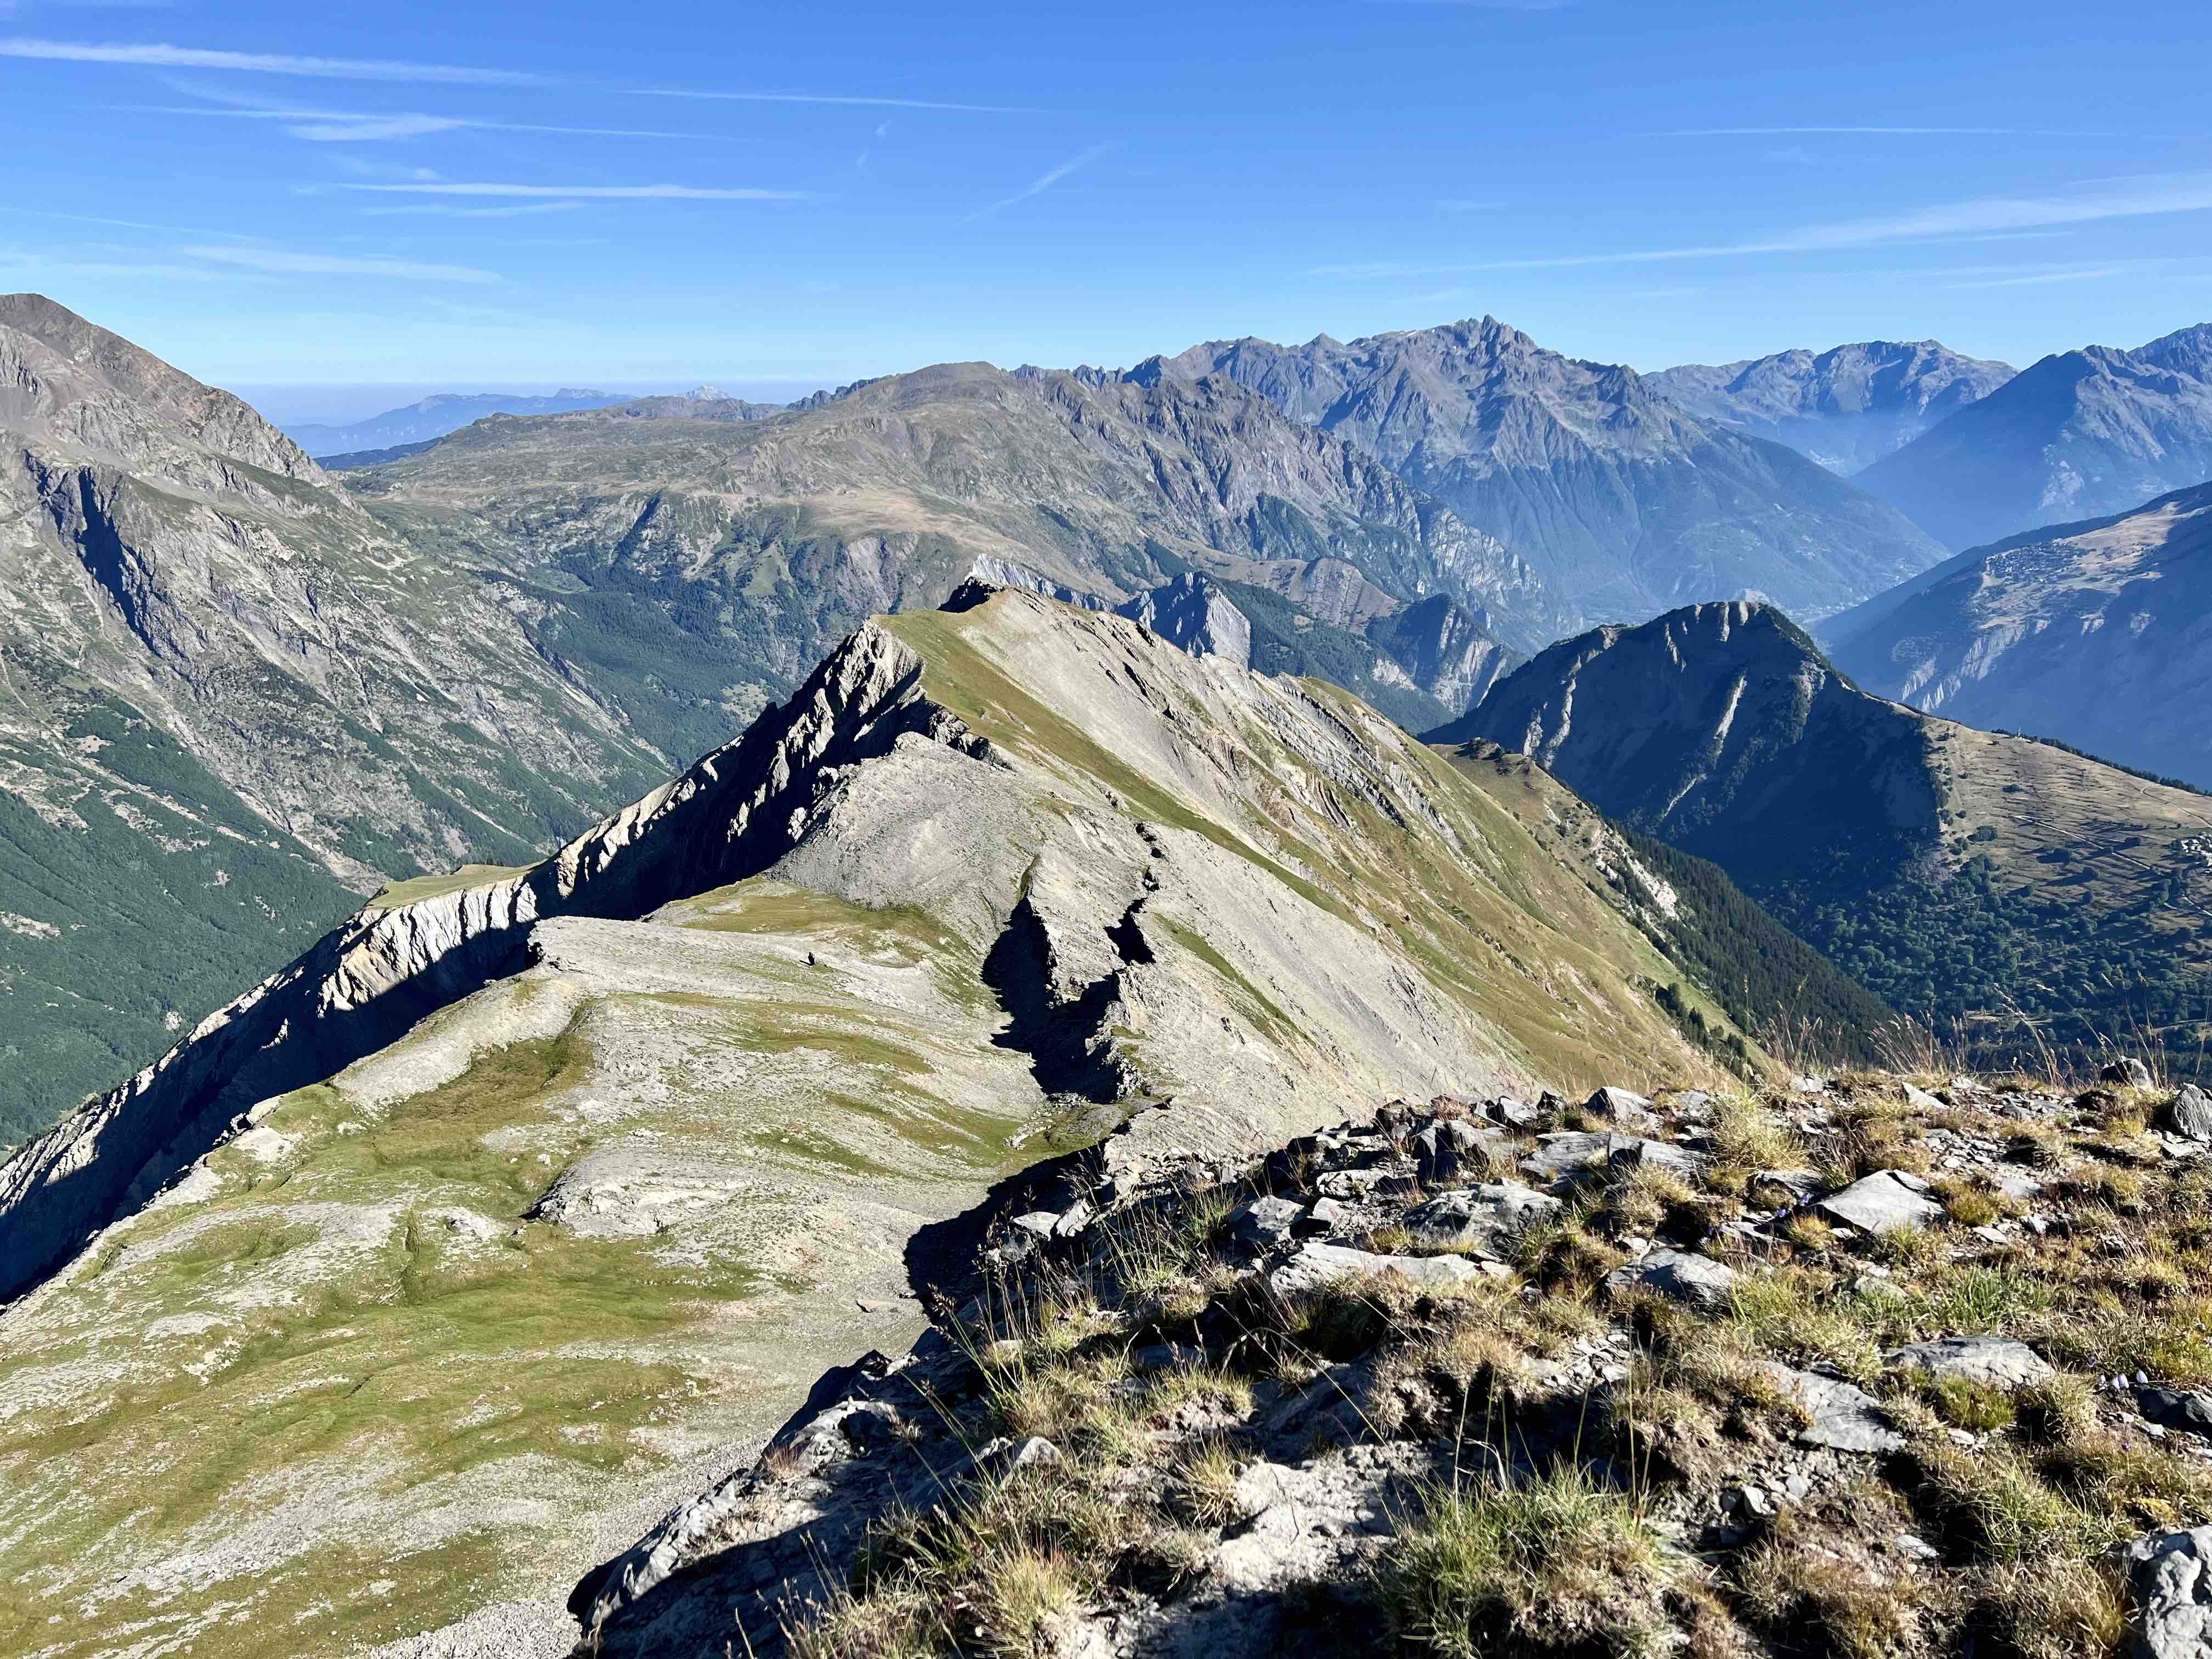
<path fill-rule="evenodd" d="M 2015 374 L 2011 363 L 1962 356 L 1936 341 L 1865 341 L 1686 363 L 1644 378 L 1699 420 L 1787 445 L 1849 478 Z"/>

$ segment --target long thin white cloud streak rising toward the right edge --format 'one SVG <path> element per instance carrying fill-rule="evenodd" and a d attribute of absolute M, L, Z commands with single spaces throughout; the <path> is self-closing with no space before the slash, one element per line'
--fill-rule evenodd
<path fill-rule="evenodd" d="M 1635 248 L 1606 254 L 1546 254 L 1533 259 L 1478 259 L 1455 263 L 1378 261 L 1360 265 L 1316 265 L 1310 276 L 1460 276 L 1489 270 L 1571 270 L 1579 265 L 1650 265 L 1677 259 L 1730 259 L 1741 254 L 1805 254 L 1882 248 L 1913 241 L 1997 239 L 2053 226 L 2101 219 L 2143 219 L 2212 208 L 2212 173 L 2108 179 L 2042 197 L 1980 197 L 1911 212 L 1838 219 L 1798 226 L 1772 237 L 1694 243 L 1688 248 Z"/>

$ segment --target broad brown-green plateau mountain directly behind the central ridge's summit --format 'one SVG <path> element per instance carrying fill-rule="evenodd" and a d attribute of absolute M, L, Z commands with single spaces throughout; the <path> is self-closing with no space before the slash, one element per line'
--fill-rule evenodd
<path fill-rule="evenodd" d="M 500 571 L 549 657 L 692 748 L 863 617 L 978 566 L 1121 604 L 1192 568 L 1265 586 L 1340 562 L 1400 608 L 1444 593 L 1484 633 L 1540 593 L 1374 458 L 1221 380 L 945 365 L 768 420 L 493 418 L 347 482 L 416 546 Z"/>

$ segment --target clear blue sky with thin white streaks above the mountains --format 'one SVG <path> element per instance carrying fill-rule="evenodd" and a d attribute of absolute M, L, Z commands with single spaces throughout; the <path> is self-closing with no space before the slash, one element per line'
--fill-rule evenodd
<path fill-rule="evenodd" d="M 2051 0 L 0 0 L 0 285 L 361 409 L 1482 312 L 2026 363 L 2212 319 L 2208 46 Z"/>

